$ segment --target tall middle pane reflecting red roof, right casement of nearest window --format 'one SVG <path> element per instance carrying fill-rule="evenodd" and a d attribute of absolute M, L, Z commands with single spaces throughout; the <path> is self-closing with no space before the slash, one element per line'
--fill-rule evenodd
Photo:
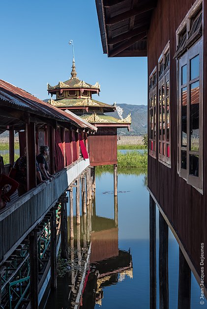
<path fill-rule="evenodd" d="M 199 151 L 199 81 L 190 85 L 190 150 Z"/>

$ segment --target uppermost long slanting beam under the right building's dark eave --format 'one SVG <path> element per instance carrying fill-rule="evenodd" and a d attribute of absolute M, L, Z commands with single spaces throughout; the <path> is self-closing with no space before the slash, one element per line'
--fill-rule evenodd
<path fill-rule="evenodd" d="M 124 13 L 118 14 L 117 16 L 111 17 L 106 20 L 106 26 L 112 26 L 119 22 L 122 22 L 128 18 L 131 18 L 133 16 L 141 15 L 145 12 L 151 11 L 155 8 L 154 3 L 148 3 L 146 5 L 139 5 L 137 8 L 134 8 L 132 10 L 126 11 Z"/>

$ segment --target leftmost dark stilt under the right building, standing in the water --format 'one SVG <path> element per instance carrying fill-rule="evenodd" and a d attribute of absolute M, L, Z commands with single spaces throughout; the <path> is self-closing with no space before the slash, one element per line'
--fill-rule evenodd
<path fill-rule="evenodd" d="M 156 205 L 149 194 L 150 309 L 156 309 Z"/>

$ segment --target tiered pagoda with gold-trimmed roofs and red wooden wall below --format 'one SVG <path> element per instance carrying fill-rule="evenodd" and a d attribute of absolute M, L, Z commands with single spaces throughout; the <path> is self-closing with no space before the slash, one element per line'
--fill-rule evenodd
<path fill-rule="evenodd" d="M 99 94 L 100 84 L 91 85 L 77 77 L 75 60 L 73 58 L 71 77 L 56 86 L 47 86 L 51 99 L 48 103 L 62 110 L 70 110 L 98 128 L 94 135 L 88 137 L 88 151 L 91 166 L 117 165 L 117 129 L 127 128 L 131 124 L 131 115 L 125 119 L 107 115 L 115 112 L 116 104 L 109 105 L 92 99 L 93 94 Z M 56 99 L 53 100 L 53 95 Z"/>

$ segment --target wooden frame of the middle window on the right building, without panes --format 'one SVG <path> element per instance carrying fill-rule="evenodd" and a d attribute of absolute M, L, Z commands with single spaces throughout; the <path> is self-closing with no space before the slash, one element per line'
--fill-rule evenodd
<path fill-rule="evenodd" d="M 167 64 L 166 64 L 167 61 Z M 162 74 L 158 73 L 158 92 L 157 92 L 157 123 L 158 123 L 158 160 L 163 163 L 167 167 L 171 168 L 171 112 L 170 112 L 170 42 L 167 43 L 164 48 L 162 54 L 158 59 L 158 71 L 161 68 L 161 64 L 163 65 Z M 167 82 L 168 82 L 168 93 L 167 93 Z M 162 91 L 164 86 L 164 91 Z M 160 97 L 161 93 L 161 97 Z M 168 101 L 169 100 L 169 101 Z M 167 108 L 167 101 L 169 102 L 169 108 Z M 164 117 L 163 117 L 163 102 L 164 102 Z M 160 113 L 160 104 L 161 104 L 161 113 Z M 168 112 L 169 111 L 169 112 Z M 169 114 L 169 120 L 168 120 Z M 160 138 L 160 116 L 161 116 L 161 138 Z M 163 134 L 163 119 L 165 120 L 165 134 Z M 167 129 L 169 123 L 169 140 L 167 140 Z M 167 127 L 166 127 L 167 125 Z M 161 147 L 160 147 L 161 146 Z M 169 147 L 169 156 L 168 154 Z M 161 153 L 160 153 L 161 149 Z M 164 151 L 163 151 L 164 150 Z"/>

